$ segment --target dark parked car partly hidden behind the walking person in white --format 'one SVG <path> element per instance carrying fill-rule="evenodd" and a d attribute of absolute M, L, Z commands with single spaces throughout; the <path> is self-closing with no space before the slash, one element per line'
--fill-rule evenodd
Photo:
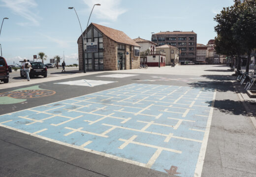
<path fill-rule="evenodd" d="M 31 76 L 43 76 L 47 77 L 47 68 L 44 66 L 42 62 L 30 62 L 32 69 L 30 70 L 30 77 Z M 21 77 L 27 77 L 26 72 L 24 69 L 20 70 Z"/>

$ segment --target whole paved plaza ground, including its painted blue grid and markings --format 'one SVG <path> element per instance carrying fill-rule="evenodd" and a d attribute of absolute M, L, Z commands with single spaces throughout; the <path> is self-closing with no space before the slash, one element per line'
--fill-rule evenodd
<path fill-rule="evenodd" d="M 0 176 L 255 177 L 254 101 L 244 107 L 227 69 L 150 67 L 0 85 Z"/>

